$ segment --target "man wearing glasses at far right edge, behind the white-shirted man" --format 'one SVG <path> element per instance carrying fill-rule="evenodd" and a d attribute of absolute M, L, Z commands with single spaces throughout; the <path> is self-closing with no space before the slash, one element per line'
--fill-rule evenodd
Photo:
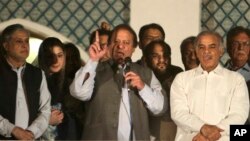
<path fill-rule="evenodd" d="M 250 30 L 242 26 L 237 26 L 229 30 L 227 34 L 227 52 L 230 60 L 225 67 L 239 72 L 245 78 L 250 88 L 250 63 L 248 61 L 250 51 Z M 246 121 L 250 124 L 250 118 Z"/>

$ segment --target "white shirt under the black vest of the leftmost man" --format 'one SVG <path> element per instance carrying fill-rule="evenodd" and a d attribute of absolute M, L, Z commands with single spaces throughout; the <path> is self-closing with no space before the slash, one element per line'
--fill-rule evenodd
<path fill-rule="evenodd" d="M 39 116 L 28 126 L 29 121 L 29 111 L 27 107 L 27 102 L 24 94 L 24 89 L 22 85 L 22 71 L 25 66 L 19 69 L 14 69 L 17 73 L 17 98 L 16 98 L 16 115 L 15 123 L 10 123 L 7 119 L 0 115 L 0 134 L 5 137 L 11 137 L 11 132 L 15 126 L 21 127 L 31 131 L 35 138 L 40 137 L 46 130 L 50 117 L 50 93 L 47 88 L 47 82 L 45 79 L 44 72 L 42 73 L 42 82 L 40 87 L 40 107 Z"/>

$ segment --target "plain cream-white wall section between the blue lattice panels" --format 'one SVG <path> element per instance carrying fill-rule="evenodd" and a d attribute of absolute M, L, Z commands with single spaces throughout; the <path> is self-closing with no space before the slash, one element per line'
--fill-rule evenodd
<path fill-rule="evenodd" d="M 172 49 L 172 64 L 183 64 L 180 55 L 181 41 L 200 30 L 200 0 L 131 0 L 130 24 L 138 33 L 148 23 L 160 24 L 166 33 L 166 42 Z M 132 59 L 138 60 L 141 50 L 136 49 Z"/>

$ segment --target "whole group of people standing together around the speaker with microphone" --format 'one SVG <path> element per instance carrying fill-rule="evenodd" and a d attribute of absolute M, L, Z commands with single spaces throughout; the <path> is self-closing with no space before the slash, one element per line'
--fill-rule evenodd
<path fill-rule="evenodd" d="M 0 139 L 229 141 L 250 124 L 250 31 L 215 31 L 180 43 L 184 70 L 171 63 L 161 25 L 138 33 L 106 23 L 91 34 L 89 60 L 74 44 L 43 40 L 26 62 L 29 31 L 13 24 L 0 40 Z M 140 60 L 131 61 L 135 48 Z M 230 59 L 220 59 L 227 50 Z"/>

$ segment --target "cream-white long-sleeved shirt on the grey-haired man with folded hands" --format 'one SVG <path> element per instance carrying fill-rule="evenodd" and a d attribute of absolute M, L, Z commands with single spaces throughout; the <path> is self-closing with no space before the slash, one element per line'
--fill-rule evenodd
<path fill-rule="evenodd" d="M 213 71 L 201 66 L 182 72 L 170 92 L 171 117 L 177 124 L 176 141 L 191 141 L 204 124 L 224 130 L 220 140 L 229 140 L 231 124 L 244 124 L 249 110 L 244 78 L 218 65 Z"/>

